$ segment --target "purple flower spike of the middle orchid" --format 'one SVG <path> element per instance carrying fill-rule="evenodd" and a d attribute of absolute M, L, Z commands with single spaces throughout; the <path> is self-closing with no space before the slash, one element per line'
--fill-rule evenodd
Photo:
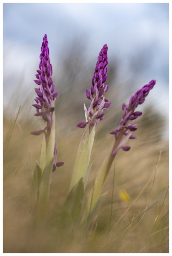
<path fill-rule="evenodd" d="M 87 124 L 92 126 L 97 125 L 99 121 L 104 119 L 103 110 L 109 108 L 111 105 L 111 102 L 103 96 L 103 93 L 109 89 L 108 85 L 104 85 L 107 79 L 107 51 L 107 44 L 104 44 L 97 58 L 91 90 L 86 90 L 86 96 L 91 101 L 86 113 L 87 122 L 79 122 L 77 124 L 79 128 L 85 128 Z"/>

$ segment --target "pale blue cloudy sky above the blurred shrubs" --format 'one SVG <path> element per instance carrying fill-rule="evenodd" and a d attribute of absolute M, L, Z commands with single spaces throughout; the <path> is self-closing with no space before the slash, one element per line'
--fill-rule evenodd
<path fill-rule="evenodd" d="M 97 58 L 103 44 L 108 44 L 109 63 L 114 56 L 120 60 L 118 79 L 135 76 L 139 88 L 157 79 L 154 96 L 149 100 L 156 95 L 159 108 L 168 112 L 168 3 L 4 3 L 4 102 L 8 102 L 6 95 L 11 86 L 17 86 L 23 70 L 25 82 L 30 81 L 29 86 L 32 83 L 45 33 L 51 45 L 52 63 L 60 63 L 62 51 L 75 38 L 85 42 L 88 62 L 93 56 Z M 147 64 L 140 73 L 133 73 L 128 59 L 137 58 L 138 52 Z"/>

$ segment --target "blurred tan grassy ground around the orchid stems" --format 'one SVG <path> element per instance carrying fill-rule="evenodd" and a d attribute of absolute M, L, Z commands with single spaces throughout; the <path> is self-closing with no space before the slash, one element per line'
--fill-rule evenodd
<path fill-rule="evenodd" d="M 83 133 L 82 129 L 75 128 L 80 121 L 76 111 L 75 117 L 68 110 L 69 118 L 62 112 L 56 119 L 57 161 L 64 161 L 65 165 L 57 169 L 52 179 L 46 232 L 36 234 L 28 222 L 32 173 L 35 160 L 39 160 L 41 145 L 41 137 L 30 134 L 39 127 L 39 118 L 27 117 L 29 108 L 27 112 L 20 109 L 15 125 L 9 111 L 4 112 L 4 253 L 168 253 L 169 153 L 168 141 L 161 137 L 164 129 L 161 118 L 148 110 L 140 117 L 140 127 L 135 132 L 138 139 L 131 141 L 130 151 L 120 151 L 117 155 L 103 189 L 108 194 L 83 238 L 80 231 L 74 237 L 66 230 L 54 230 L 50 221 L 53 213 L 58 211 L 54 200 L 63 203 L 68 193 Z M 113 126 L 112 114 L 113 111 L 107 113 L 106 120 L 97 125 L 92 151 L 95 163 L 87 193 L 114 139 L 109 134 Z M 155 175 L 145 186 L 155 168 Z M 121 198 L 123 193 L 129 200 Z"/>

